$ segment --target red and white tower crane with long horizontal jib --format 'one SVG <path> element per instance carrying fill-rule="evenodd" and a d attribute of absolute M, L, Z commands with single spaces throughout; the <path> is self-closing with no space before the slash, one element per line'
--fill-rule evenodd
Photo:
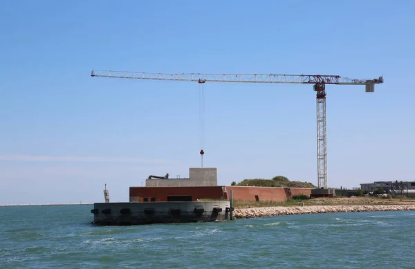
<path fill-rule="evenodd" d="M 326 85 L 364 85 L 366 92 L 374 92 L 377 79 L 350 79 L 326 74 L 201 74 L 201 73 L 150 73 L 111 70 L 92 70 L 91 77 L 117 79 L 145 79 L 160 81 L 233 82 L 233 83 L 297 83 L 313 84 L 317 99 L 317 186 L 327 188 L 326 150 Z M 201 150 L 203 157 L 203 150 Z"/>

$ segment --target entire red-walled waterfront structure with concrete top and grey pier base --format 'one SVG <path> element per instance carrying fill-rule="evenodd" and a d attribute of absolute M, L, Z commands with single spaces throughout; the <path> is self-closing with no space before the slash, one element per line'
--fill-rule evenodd
<path fill-rule="evenodd" d="M 216 168 L 190 168 L 190 177 L 169 179 L 150 175 L 145 187 L 129 188 L 129 203 L 94 203 L 93 223 L 136 225 L 232 220 L 233 201 L 287 201 L 293 195 L 310 195 L 310 188 L 217 186 Z M 108 197 L 108 199 L 107 199 Z M 107 201 L 108 200 L 108 201 Z"/>

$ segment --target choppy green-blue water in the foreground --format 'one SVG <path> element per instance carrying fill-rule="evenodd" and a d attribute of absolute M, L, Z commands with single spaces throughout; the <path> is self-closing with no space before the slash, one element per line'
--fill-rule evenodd
<path fill-rule="evenodd" d="M 415 212 L 97 227 L 91 208 L 0 207 L 0 268 L 415 268 Z"/>

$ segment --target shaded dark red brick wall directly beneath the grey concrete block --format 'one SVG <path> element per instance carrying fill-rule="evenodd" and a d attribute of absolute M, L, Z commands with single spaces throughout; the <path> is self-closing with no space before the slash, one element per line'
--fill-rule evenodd
<path fill-rule="evenodd" d="M 130 187 L 130 197 L 138 197 L 138 201 L 143 201 L 144 197 L 156 198 L 156 201 L 167 201 L 167 196 L 191 195 L 192 200 L 197 199 L 221 199 L 223 196 L 221 186 L 202 186 L 202 187 Z"/>

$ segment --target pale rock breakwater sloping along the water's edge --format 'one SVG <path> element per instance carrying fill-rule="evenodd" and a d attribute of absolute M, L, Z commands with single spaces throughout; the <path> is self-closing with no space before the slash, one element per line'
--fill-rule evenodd
<path fill-rule="evenodd" d="M 282 215 L 302 215 L 335 212 L 367 212 L 367 211 L 405 211 L 415 210 L 415 205 L 379 205 L 379 206 L 275 206 L 267 208 L 234 209 L 235 219 L 257 217 L 273 217 Z"/>

